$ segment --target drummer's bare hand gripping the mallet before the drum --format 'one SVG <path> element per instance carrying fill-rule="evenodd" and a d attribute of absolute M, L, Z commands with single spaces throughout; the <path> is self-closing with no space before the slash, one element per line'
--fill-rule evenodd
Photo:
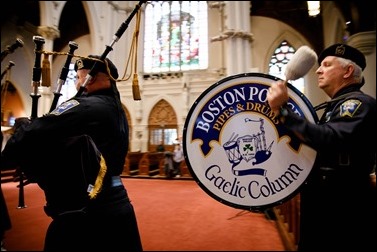
<path fill-rule="evenodd" d="M 281 106 L 287 104 L 288 98 L 288 88 L 284 81 L 277 81 L 268 89 L 268 105 L 275 115 L 279 115 Z"/>

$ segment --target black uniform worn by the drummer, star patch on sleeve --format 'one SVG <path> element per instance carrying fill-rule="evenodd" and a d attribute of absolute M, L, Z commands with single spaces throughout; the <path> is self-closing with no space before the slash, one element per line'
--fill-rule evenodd
<path fill-rule="evenodd" d="M 284 122 L 317 151 L 301 187 L 299 249 L 367 248 L 376 241 L 375 188 L 370 183 L 376 162 L 376 100 L 355 84 L 325 105 L 317 124 L 289 109 Z"/>

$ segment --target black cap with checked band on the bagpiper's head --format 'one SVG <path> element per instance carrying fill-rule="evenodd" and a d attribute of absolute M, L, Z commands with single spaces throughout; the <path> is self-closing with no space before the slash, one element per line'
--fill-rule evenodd
<path fill-rule="evenodd" d="M 118 69 L 116 68 L 114 63 L 111 62 L 111 60 L 109 60 L 108 58 L 106 58 L 107 66 L 109 67 L 109 71 L 107 71 L 106 64 L 103 61 L 98 61 L 100 59 L 101 57 L 98 55 L 89 55 L 88 58 L 78 59 L 76 60 L 76 63 L 75 63 L 75 71 L 80 70 L 80 69 L 92 69 L 92 67 L 94 66 L 94 63 L 97 62 L 96 67 L 98 67 L 99 72 L 109 74 L 109 71 L 110 71 L 111 76 L 114 79 L 117 79 Z"/>

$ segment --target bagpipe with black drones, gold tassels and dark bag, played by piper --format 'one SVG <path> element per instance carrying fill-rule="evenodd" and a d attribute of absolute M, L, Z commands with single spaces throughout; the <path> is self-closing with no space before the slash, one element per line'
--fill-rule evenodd
<path fill-rule="evenodd" d="M 106 45 L 105 51 L 101 54 L 100 61 L 107 63 L 105 60 L 107 55 L 112 51 L 113 45 L 120 39 L 123 35 L 125 30 L 128 28 L 129 23 L 133 19 L 133 17 L 138 14 L 138 21 L 140 21 L 140 8 L 143 3 L 146 1 L 140 1 L 131 12 L 129 17 L 121 24 L 115 35 L 113 36 L 113 40 L 111 41 L 110 45 Z M 137 38 L 138 31 L 134 33 L 134 39 Z M 69 50 L 67 53 L 55 53 L 55 52 L 46 52 L 43 50 L 43 45 L 45 44 L 45 39 L 41 36 L 34 36 L 33 41 L 35 44 L 35 61 L 33 66 L 33 73 L 32 73 L 32 92 L 30 97 L 32 98 L 32 107 L 31 107 L 31 115 L 29 121 L 33 121 L 34 119 L 38 118 L 38 100 L 41 95 L 38 92 L 38 88 L 41 85 L 42 81 L 49 82 L 49 72 L 48 69 L 49 62 L 48 55 L 49 54 L 63 54 L 67 55 L 61 73 L 59 75 L 59 79 L 56 83 L 56 90 L 54 92 L 54 98 L 49 109 L 49 112 L 52 112 L 60 98 L 61 88 L 66 82 L 66 78 L 69 72 L 69 66 L 72 61 L 73 57 L 84 58 L 78 55 L 75 55 L 74 52 L 78 49 L 77 43 L 74 41 L 70 41 L 68 46 Z M 134 40 L 135 42 L 135 40 Z M 137 42 L 137 40 L 136 40 Z M 16 47 L 20 45 L 14 45 L 9 47 L 6 52 L 2 53 L 6 55 L 7 53 L 14 50 Z M 45 56 L 42 62 L 42 55 Z M 99 71 L 98 61 L 95 61 L 93 67 L 90 69 L 88 75 L 85 78 L 83 85 L 77 91 L 75 97 L 81 96 L 86 84 L 95 76 Z M 136 67 L 136 66 L 135 66 Z M 127 70 L 127 69 L 126 69 Z M 43 84 L 42 84 L 43 85 Z M 132 82 L 132 91 L 135 100 L 140 100 L 140 91 L 138 87 L 137 76 L 134 74 L 134 80 Z M 39 141 L 39 140 L 38 140 Z M 63 158 L 61 161 L 54 162 L 50 158 L 46 158 L 46 160 L 40 161 L 35 160 L 35 151 L 33 151 L 33 146 L 29 146 L 25 148 L 24 159 L 27 162 L 20 165 L 20 169 L 18 171 L 20 184 L 19 184 L 19 207 L 25 207 L 24 204 L 24 196 L 23 196 L 23 187 L 24 187 L 24 176 L 31 182 L 36 182 L 38 185 L 44 190 L 46 198 L 49 198 L 50 201 L 53 201 L 54 198 L 58 197 L 62 199 L 62 202 L 67 203 L 67 205 L 72 205 L 72 208 L 80 207 L 78 206 L 79 202 L 83 202 L 83 199 L 95 198 L 98 192 L 101 190 L 102 180 L 104 178 L 104 174 L 106 172 L 106 165 L 103 160 L 101 153 L 97 150 L 94 142 L 92 139 L 87 135 L 82 136 L 75 136 L 70 139 L 59 139 L 59 140 L 46 140 L 43 142 L 45 146 L 50 146 L 49 149 L 52 152 L 54 149 L 54 153 L 56 150 L 59 150 L 58 153 L 68 153 L 71 157 L 67 160 Z M 51 147 L 53 144 L 54 148 Z M 27 150 L 26 150 L 27 149 Z M 76 150 L 76 151 L 72 151 Z M 77 151 L 81 150 L 81 151 Z M 53 157 L 54 153 L 48 153 L 44 156 L 46 157 Z M 73 159 L 73 160 L 72 160 Z M 83 161 L 85 160 L 85 162 Z M 54 163 L 54 164 L 53 164 Z M 77 165 L 72 165 L 73 163 Z M 51 166 L 54 167 L 51 167 Z M 92 171 L 89 171 L 87 168 L 90 167 Z M 57 173 L 56 170 L 67 170 L 67 174 L 69 174 L 69 178 L 67 176 L 62 176 L 61 173 Z M 93 173 L 94 172 L 94 173 Z M 95 176 L 93 175 L 95 174 Z M 71 183 L 72 182 L 72 183 Z M 65 189 L 64 189 L 65 188 Z M 53 195 L 53 196 L 51 196 Z M 58 195 L 58 196 L 57 196 Z M 84 196 L 83 196 L 84 195 Z M 75 200 L 76 199 L 76 200 Z M 69 202 L 73 202 L 69 204 Z M 77 202 L 77 204 L 75 203 Z M 69 210 L 69 209 L 68 209 Z"/>

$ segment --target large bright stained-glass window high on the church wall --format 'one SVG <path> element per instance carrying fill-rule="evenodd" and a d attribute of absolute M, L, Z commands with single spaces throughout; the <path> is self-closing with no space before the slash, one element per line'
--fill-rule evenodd
<path fill-rule="evenodd" d="M 207 1 L 150 1 L 145 9 L 144 73 L 208 67 Z"/>

